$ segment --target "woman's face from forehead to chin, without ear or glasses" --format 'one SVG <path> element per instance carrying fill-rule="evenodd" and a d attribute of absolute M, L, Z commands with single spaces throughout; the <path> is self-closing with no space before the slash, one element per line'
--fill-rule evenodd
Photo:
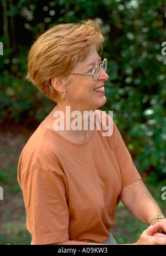
<path fill-rule="evenodd" d="M 95 50 L 84 61 L 79 61 L 72 73 L 91 75 L 94 68 L 100 63 L 101 58 Z M 103 87 L 108 75 L 101 69 L 96 81 L 92 76 L 72 75 L 69 85 L 66 87 L 66 104 L 72 110 L 96 110 L 106 102 L 105 91 L 95 91 Z"/>

